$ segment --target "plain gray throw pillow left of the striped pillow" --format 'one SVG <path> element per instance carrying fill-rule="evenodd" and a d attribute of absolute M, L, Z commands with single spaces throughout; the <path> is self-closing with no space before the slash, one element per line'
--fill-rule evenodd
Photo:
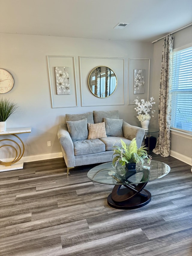
<path fill-rule="evenodd" d="M 88 137 L 87 119 L 78 121 L 66 121 L 72 141 L 86 140 Z"/>

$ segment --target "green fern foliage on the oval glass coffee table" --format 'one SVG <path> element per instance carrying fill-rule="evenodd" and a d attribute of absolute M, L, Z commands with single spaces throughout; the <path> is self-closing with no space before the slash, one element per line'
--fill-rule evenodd
<path fill-rule="evenodd" d="M 142 162 L 143 159 L 148 158 L 147 155 L 147 147 L 141 146 L 139 149 L 137 148 L 136 138 L 134 138 L 131 143 L 128 145 L 121 139 L 122 146 L 113 146 L 113 166 L 119 162 L 121 165 L 125 165 L 126 163 L 138 163 Z"/>

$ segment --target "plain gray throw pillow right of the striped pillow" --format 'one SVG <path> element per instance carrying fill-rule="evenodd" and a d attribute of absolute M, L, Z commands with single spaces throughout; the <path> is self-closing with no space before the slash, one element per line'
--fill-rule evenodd
<path fill-rule="evenodd" d="M 111 119 L 104 117 L 104 122 L 107 136 L 123 137 L 123 119 Z"/>

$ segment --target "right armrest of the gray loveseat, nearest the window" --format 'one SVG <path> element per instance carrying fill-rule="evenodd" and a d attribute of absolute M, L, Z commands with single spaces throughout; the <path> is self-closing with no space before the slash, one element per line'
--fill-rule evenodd
<path fill-rule="evenodd" d="M 137 126 L 130 125 L 125 121 L 123 121 L 122 130 L 123 136 L 126 139 L 133 140 L 133 138 L 136 138 L 137 147 L 140 148 L 143 138 L 145 136 L 145 130 Z"/>

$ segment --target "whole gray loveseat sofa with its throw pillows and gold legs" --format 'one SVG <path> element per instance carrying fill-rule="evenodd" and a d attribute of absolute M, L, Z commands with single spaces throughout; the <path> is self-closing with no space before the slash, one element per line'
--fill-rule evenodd
<path fill-rule="evenodd" d="M 136 138 L 137 146 L 140 147 L 145 135 L 143 128 L 119 119 L 118 110 L 66 114 L 65 117 L 66 123 L 59 125 L 57 135 L 67 165 L 67 174 L 75 166 L 112 161 L 114 143 L 120 144 L 120 139 L 129 144 Z M 97 131 L 100 125 L 102 131 Z"/>

